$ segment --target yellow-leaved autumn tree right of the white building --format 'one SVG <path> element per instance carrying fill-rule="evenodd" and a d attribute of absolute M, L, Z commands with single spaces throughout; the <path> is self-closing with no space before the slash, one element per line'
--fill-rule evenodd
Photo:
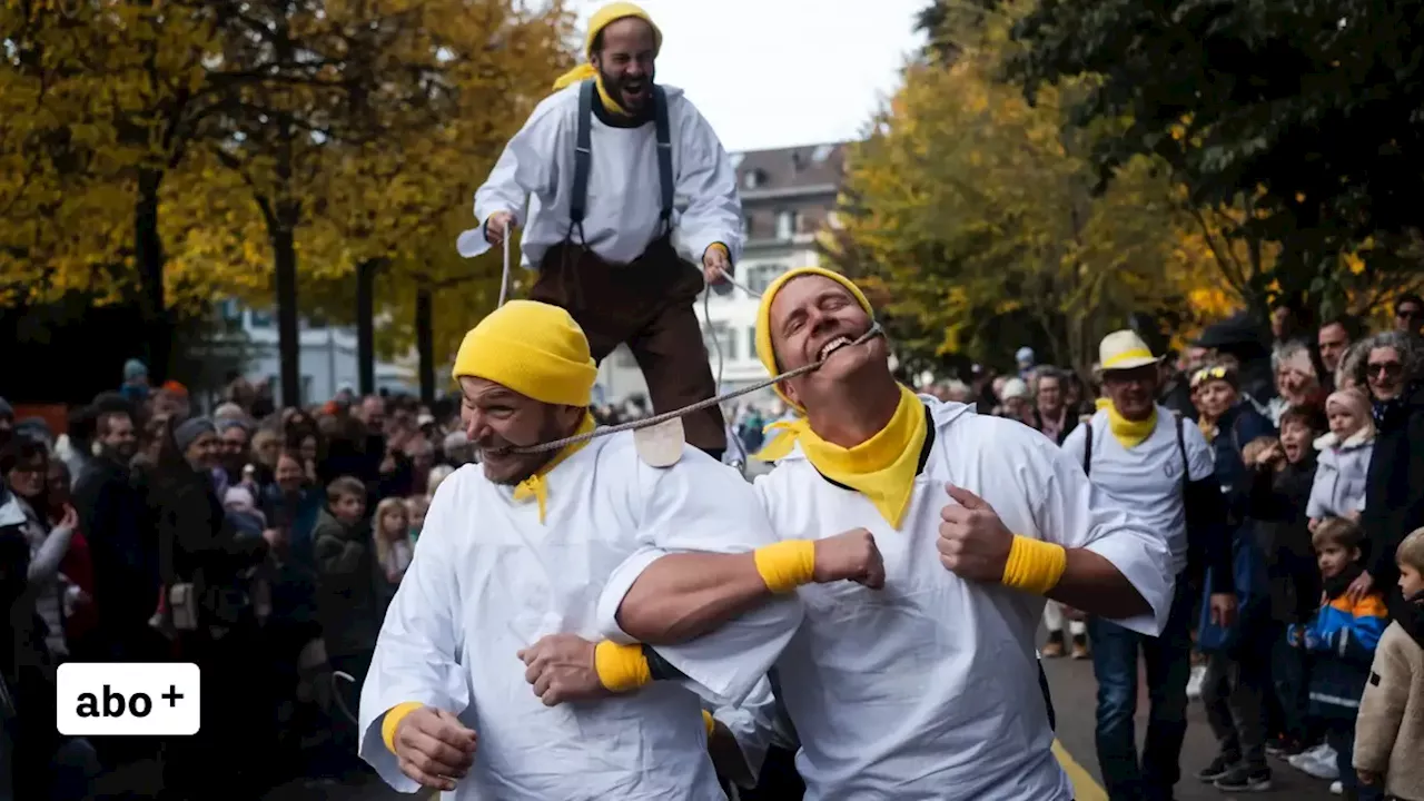
<path fill-rule="evenodd" d="M 883 292 L 903 358 L 994 359 L 1027 343 L 1087 368 L 1132 312 L 1188 315 L 1188 286 L 1210 265 L 1180 247 L 1151 161 L 1092 191 L 1087 134 L 1057 98 L 1031 107 L 995 80 L 1005 31 L 984 24 L 950 63 L 906 71 L 852 160 L 832 258 Z"/>

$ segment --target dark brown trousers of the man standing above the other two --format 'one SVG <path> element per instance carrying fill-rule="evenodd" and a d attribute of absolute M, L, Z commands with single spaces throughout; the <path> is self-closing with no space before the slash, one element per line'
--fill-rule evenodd
<path fill-rule="evenodd" d="M 544 255 L 530 299 L 567 309 L 598 362 L 628 345 L 661 413 L 716 395 L 695 308 L 702 288 L 702 272 L 682 261 L 666 237 L 627 265 L 564 242 Z M 718 458 L 726 450 L 716 405 L 684 416 L 682 425 L 691 445 Z"/>

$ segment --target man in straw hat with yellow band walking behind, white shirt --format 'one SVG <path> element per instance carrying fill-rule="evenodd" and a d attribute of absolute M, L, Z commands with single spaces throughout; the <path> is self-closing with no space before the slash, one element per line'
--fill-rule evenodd
<path fill-rule="evenodd" d="M 1198 426 L 1153 402 L 1161 359 L 1132 331 L 1098 348 L 1102 388 L 1098 412 L 1064 442 L 1092 483 L 1158 533 L 1172 553 L 1166 626 L 1143 637 L 1092 617 L 1092 667 L 1098 678 L 1098 761 L 1114 801 L 1171 801 L 1180 778 L 1186 735 L 1186 684 L 1192 673 L 1192 610 L 1203 567 L 1212 570 L 1212 616 L 1229 624 L 1236 610 L 1226 506 L 1212 469 L 1212 450 Z M 1138 701 L 1138 654 L 1146 660 L 1146 745 L 1138 758 L 1132 717 Z"/>

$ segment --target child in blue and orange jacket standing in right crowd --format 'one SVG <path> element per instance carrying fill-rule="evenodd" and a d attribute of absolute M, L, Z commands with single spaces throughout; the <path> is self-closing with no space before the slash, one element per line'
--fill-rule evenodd
<path fill-rule="evenodd" d="M 1377 591 L 1360 600 L 1351 600 L 1346 593 L 1363 572 L 1363 542 L 1364 534 L 1353 520 L 1327 517 L 1316 526 L 1312 544 L 1320 566 L 1324 603 L 1310 623 L 1290 626 L 1287 637 L 1294 647 L 1310 654 L 1310 714 L 1326 727 L 1326 743 L 1334 751 L 1334 768 L 1344 795 L 1367 801 L 1380 798 L 1380 794 L 1370 785 L 1361 785 L 1354 774 L 1354 723 L 1388 611 Z M 1320 775 L 1304 764 L 1312 758 L 1320 760 L 1320 755 L 1312 754 L 1299 754 L 1292 764 Z"/>

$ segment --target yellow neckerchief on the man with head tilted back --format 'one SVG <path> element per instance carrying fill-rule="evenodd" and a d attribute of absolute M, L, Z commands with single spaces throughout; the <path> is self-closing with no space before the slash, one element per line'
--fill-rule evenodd
<path fill-rule="evenodd" d="M 900 405 L 886 428 L 854 448 L 840 448 L 816 436 L 806 418 L 776 422 L 766 430 L 778 430 L 756 455 L 758 459 L 775 462 L 790 453 L 797 442 L 812 466 L 827 479 L 844 485 L 866 496 L 887 523 L 900 527 L 910 496 L 914 495 L 914 476 L 920 470 L 920 449 L 928 432 L 924 403 L 903 385 Z"/>

